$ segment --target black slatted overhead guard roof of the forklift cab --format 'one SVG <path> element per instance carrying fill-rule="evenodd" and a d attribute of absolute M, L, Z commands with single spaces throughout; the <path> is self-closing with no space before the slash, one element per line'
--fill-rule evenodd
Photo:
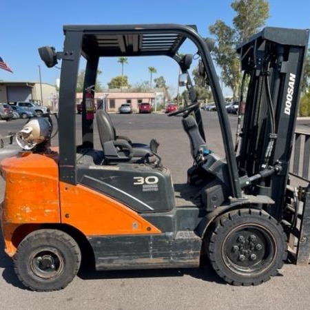
<path fill-rule="evenodd" d="M 65 25 L 63 32 L 83 32 L 82 50 L 97 56 L 151 56 L 176 54 L 196 26 L 147 25 Z"/>

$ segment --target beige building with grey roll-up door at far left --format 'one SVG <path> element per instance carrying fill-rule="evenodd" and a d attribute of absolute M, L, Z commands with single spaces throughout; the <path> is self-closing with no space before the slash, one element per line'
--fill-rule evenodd
<path fill-rule="evenodd" d="M 52 107 L 55 95 L 56 86 L 47 83 L 0 81 L 0 102 L 34 101 Z"/>

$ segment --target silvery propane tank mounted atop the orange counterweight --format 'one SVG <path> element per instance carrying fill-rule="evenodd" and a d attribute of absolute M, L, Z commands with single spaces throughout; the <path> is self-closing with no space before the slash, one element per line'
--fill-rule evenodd
<path fill-rule="evenodd" d="M 47 118 L 35 118 L 23 126 L 16 134 L 17 144 L 25 150 L 30 150 L 37 145 L 46 147 L 50 143 L 52 124 Z"/>

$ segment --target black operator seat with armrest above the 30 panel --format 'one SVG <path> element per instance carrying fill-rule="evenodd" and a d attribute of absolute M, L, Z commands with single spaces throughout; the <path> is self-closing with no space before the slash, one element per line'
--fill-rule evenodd
<path fill-rule="evenodd" d="M 112 119 L 104 110 L 97 110 L 96 123 L 106 162 L 154 163 L 156 161 L 148 145 L 132 143 L 125 136 L 116 136 Z"/>

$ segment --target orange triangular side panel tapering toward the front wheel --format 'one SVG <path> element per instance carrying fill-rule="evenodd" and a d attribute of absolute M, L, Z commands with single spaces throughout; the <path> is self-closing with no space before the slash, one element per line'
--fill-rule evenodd
<path fill-rule="evenodd" d="M 61 223 L 86 236 L 160 234 L 135 211 L 83 185 L 60 183 Z"/>

